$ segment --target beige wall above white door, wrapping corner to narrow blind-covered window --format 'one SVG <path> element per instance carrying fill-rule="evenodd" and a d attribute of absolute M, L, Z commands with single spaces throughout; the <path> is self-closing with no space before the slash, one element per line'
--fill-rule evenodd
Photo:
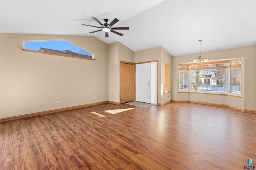
<path fill-rule="evenodd" d="M 162 48 L 154 47 L 142 51 L 135 52 L 134 62 L 142 63 L 158 60 L 158 104 L 171 100 L 171 95 L 164 94 L 164 63 L 170 63 L 170 89 L 172 84 L 171 79 L 171 56 Z"/>

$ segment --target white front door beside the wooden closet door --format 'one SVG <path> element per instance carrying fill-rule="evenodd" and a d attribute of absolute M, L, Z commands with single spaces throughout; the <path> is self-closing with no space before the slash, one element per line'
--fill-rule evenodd
<path fill-rule="evenodd" d="M 136 101 L 150 103 L 150 63 L 136 64 Z"/>

